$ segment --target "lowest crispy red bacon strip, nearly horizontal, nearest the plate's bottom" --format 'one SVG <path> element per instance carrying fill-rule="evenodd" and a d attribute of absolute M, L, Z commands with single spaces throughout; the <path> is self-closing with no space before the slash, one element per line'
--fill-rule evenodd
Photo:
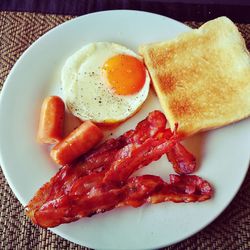
<path fill-rule="evenodd" d="M 81 217 L 105 212 L 115 207 L 139 207 L 144 203 L 195 202 L 212 196 L 208 182 L 197 176 L 170 176 L 170 184 L 160 177 L 144 175 L 131 177 L 121 188 L 105 183 L 92 187 L 87 195 L 68 195 L 48 201 L 33 214 L 33 221 L 42 227 L 55 227 Z"/>

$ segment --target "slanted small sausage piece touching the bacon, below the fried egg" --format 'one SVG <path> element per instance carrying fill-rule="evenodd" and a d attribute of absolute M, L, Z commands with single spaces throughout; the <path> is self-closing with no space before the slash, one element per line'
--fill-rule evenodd
<path fill-rule="evenodd" d="M 91 121 L 86 121 L 55 145 L 50 156 L 60 165 L 69 164 L 97 145 L 102 138 L 101 129 Z"/>

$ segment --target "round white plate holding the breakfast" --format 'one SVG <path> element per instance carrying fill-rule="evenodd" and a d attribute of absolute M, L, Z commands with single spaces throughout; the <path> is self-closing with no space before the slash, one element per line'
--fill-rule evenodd
<path fill-rule="evenodd" d="M 107 11 L 59 25 L 38 39 L 17 61 L 1 94 L 1 165 L 17 198 L 26 205 L 57 171 L 48 148 L 36 143 L 43 98 L 57 94 L 65 59 L 86 43 L 113 41 L 137 50 L 139 44 L 166 40 L 189 28 L 172 19 L 138 11 Z M 192 46 L 192 45 L 191 45 Z M 159 108 L 151 94 L 143 109 L 115 134 L 131 129 Z M 99 249 L 151 249 L 183 240 L 213 221 L 237 193 L 248 169 L 250 120 L 194 136 L 187 142 L 200 161 L 197 175 L 212 183 L 213 199 L 192 204 L 161 203 L 119 208 L 52 229 L 80 245 Z M 142 172 L 167 178 L 165 157 Z"/>

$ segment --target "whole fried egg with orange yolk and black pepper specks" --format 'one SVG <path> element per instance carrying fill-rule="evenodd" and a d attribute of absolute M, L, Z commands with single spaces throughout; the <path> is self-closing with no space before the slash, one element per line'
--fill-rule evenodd
<path fill-rule="evenodd" d="M 146 100 L 149 83 L 141 57 L 109 42 L 85 45 L 62 69 L 69 111 L 95 123 L 117 123 L 132 116 Z"/>

